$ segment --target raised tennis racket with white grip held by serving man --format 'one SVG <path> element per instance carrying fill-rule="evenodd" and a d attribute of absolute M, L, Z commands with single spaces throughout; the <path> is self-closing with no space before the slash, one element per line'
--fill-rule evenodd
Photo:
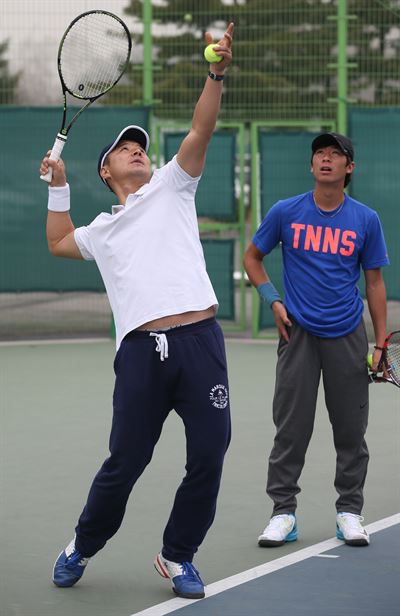
<path fill-rule="evenodd" d="M 50 159 L 59 160 L 71 126 L 95 100 L 122 77 L 132 49 L 124 22 L 107 11 L 88 11 L 68 26 L 58 48 L 57 66 L 64 96 L 62 124 Z M 67 92 L 87 101 L 67 123 Z M 51 182 L 52 169 L 40 179 Z"/>

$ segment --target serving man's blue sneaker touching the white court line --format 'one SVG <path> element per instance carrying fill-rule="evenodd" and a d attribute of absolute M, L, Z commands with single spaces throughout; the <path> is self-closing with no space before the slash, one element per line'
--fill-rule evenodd
<path fill-rule="evenodd" d="M 154 566 L 163 578 L 172 580 L 172 590 L 178 597 L 203 599 L 205 596 L 204 584 L 192 563 L 174 563 L 164 558 L 160 552 L 154 561 Z"/>

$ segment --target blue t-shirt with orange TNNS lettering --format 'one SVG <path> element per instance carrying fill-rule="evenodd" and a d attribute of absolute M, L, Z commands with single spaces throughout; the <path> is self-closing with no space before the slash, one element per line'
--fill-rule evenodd
<path fill-rule="evenodd" d="M 307 192 L 273 205 L 253 238 L 264 254 L 279 242 L 288 312 L 315 336 L 352 332 L 364 308 L 360 268 L 389 264 L 377 213 L 345 195 L 343 205 L 327 216 Z"/>

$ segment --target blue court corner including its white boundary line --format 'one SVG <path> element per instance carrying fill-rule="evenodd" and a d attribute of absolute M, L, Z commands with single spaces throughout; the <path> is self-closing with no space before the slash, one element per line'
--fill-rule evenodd
<path fill-rule="evenodd" d="M 396 616 L 400 613 L 400 514 L 366 527 L 368 547 L 328 539 L 132 616 Z M 267 548 L 268 549 L 268 548 Z"/>

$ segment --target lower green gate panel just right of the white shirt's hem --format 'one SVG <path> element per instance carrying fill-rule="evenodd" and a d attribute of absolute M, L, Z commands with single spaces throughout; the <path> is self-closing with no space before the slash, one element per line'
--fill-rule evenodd
<path fill-rule="evenodd" d="M 235 319 L 234 304 L 234 250 L 235 240 L 201 241 L 207 272 L 219 302 L 218 318 Z"/>

